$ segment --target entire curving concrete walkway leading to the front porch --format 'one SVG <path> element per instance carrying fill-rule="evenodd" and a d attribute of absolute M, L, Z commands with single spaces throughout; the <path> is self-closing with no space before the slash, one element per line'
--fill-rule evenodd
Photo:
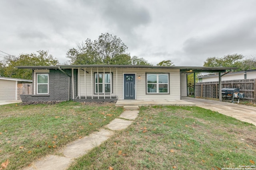
<path fill-rule="evenodd" d="M 97 147 L 112 135 L 116 130 L 122 130 L 127 128 L 133 120 L 138 116 L 138 106 L 135 107 L 124 107 L 126 109 L 120 118 L 116 118 L 111 121 L 105 128 L 100 129 L 98 132 L 92 133 L 82 139 L 74 141 L 67 145 L 59 155 L 49 155 L 41 160 L 33 162 L 30 167 L 24 170 L 65 170 L 74 161 L 88 151 Z"/>

